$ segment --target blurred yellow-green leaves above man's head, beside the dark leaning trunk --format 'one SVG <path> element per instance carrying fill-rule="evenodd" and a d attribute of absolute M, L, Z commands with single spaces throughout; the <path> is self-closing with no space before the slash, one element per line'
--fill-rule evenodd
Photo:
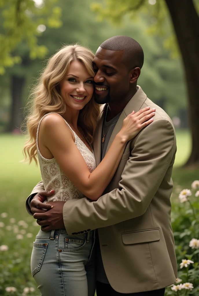
<path fill-rule="evenodd" d="M 150 25 L 146 32 L 150 35 L 164 36 L 164 45 L 171 50 L 171 56 L 178 55 L 176 38 L 168 20 L 165 0 L 119 0 L 117 4 L 114 0 L 104 0 L 103 2 L 104 4 L 94 2 L 91 5 L 99 21 L 108 19 L 115 25 L 122 25 L 126 15 L 133 22 L 139 20 L 140 17 L 150 19 Z"/>

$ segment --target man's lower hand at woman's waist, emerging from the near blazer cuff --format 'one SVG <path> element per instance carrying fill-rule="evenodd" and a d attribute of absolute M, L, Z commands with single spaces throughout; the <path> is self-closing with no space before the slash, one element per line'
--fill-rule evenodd
<path fill-rule="evenodd" d="M 50 210 L 33 215 L 42 231 L 65 228 L 62 213 L 64 204 L 65 202 L 48 202 L 45 205 L 53 206 Z"/>

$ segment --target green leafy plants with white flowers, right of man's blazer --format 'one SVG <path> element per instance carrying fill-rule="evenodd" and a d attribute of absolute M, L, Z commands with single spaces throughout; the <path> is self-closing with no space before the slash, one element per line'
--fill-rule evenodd
<path fill-rule="evenodd" d="M 182 187 L 174 187 L 175 202 L 172 205 L 171 221 L 175 239 L 176 258 L 178 263 L 178 278 L 182 281 L 176 283 L 173 287 L 166 289 L 168 295 L 199 295 L 199 181 L 192 184 L 190 194 L 182 194 Z M 177 199 L 179 194 L 179 200 Z M 181 198 L 180 198 L 181 197 Z M 184 202 L 180 202 L 185 197 Z M 191 244 L 191 240 L 195 239 L 195 245 Z M 181 266 L 183 259 L 192 260 L 194 263 Z M 179 284 L 177 286 L 177 284 Z M 183 283 L 192 283 L 193 289 L 185 289 Z M 179 289 L 172 291 L 172 289 Z"/>

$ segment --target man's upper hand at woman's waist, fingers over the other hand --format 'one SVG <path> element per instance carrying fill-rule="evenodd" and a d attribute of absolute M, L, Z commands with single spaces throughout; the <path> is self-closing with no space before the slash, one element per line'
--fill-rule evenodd
<path fill-rule="evenodd" d="M 43 202 L 46 200 L 46 196 L 51 196 L 52 194 L 54 194 L 54 190 L 37 193 L 31 200 L 31 212 L 33 214 L 45 213 L 46 210 L 50 210 L 53 206 Z"/>

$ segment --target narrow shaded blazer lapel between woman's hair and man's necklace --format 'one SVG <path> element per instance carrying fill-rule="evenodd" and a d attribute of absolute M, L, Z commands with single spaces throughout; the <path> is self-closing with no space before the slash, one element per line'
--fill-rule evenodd
<path fill-rule="evenodd" d="M 99 163 L 101 162 L 102 126 L 104 122 L 106 108 L 107 108 L 107 104 L 103 107 L 103 110 L 100 114 L 100 118 L 97 122 L 97 128 L 94 133 L 93 149 L 94 149 L 94 155 L 96 160 L 96 166 L 99 165 Z"/>

